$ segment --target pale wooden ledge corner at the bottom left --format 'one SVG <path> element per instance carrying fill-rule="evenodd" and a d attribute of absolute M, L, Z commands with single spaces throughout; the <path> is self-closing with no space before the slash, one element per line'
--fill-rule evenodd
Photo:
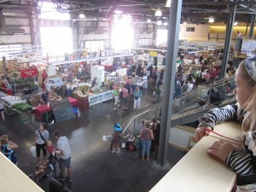
<path fill-rule="evenodd" d="M 44 192 L 39 188 L 31 178 L 27 177 L 24 172 L 8 160 L 2 153 L 0 153 L 0 170 L 3 174 L 0 175 L 1 189 L 0 191 L 11 192 Z"/>

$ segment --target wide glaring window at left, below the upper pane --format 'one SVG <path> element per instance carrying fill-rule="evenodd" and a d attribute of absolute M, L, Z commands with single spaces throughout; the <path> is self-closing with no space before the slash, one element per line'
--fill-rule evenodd
<path fill-rule="evenodd" d="M 63 55 L 73 51 L 72 31 L 70 27 L 41 27 L 43 52 Z"/>

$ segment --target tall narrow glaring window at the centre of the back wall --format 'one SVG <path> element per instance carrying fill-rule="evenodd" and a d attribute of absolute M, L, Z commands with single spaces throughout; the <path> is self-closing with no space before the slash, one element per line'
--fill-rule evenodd
<path fill-rule="evenodd" d="M 133 44 L 133 27 L 130 15 L 115 15 L 112 32 L 113 49 L 129 49 Z"/>

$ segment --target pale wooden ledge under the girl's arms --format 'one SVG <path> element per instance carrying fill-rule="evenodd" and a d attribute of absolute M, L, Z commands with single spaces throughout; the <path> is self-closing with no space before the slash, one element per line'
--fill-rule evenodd
<path fill-rule="evenodd" d="M 235 122 L 216 125 L 214 131 L 226 137 L 242 138 L 241 125 Z M 230 192 L 236 173 L 207 154 L 208 147 L 219 138 L 212 133 L 203 137 L 150 192 Z"/>

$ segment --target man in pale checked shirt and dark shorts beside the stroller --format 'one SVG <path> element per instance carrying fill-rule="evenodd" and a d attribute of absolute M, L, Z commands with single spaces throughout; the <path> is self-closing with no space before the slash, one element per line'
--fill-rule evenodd
<path fill-rule="evenodd" d="M 55 150 L 55 154 L 60 154 L 60 180 L 66 179 L 67 182 L 71 182 L 71 150 L 69 148 L 67 137 L 61 137 L 60 131 L 55 131 L 54 136 L 57 139 L 57 149 Z M 64 177 L 65 168 L 67 168 L 67 177 Z"/>

